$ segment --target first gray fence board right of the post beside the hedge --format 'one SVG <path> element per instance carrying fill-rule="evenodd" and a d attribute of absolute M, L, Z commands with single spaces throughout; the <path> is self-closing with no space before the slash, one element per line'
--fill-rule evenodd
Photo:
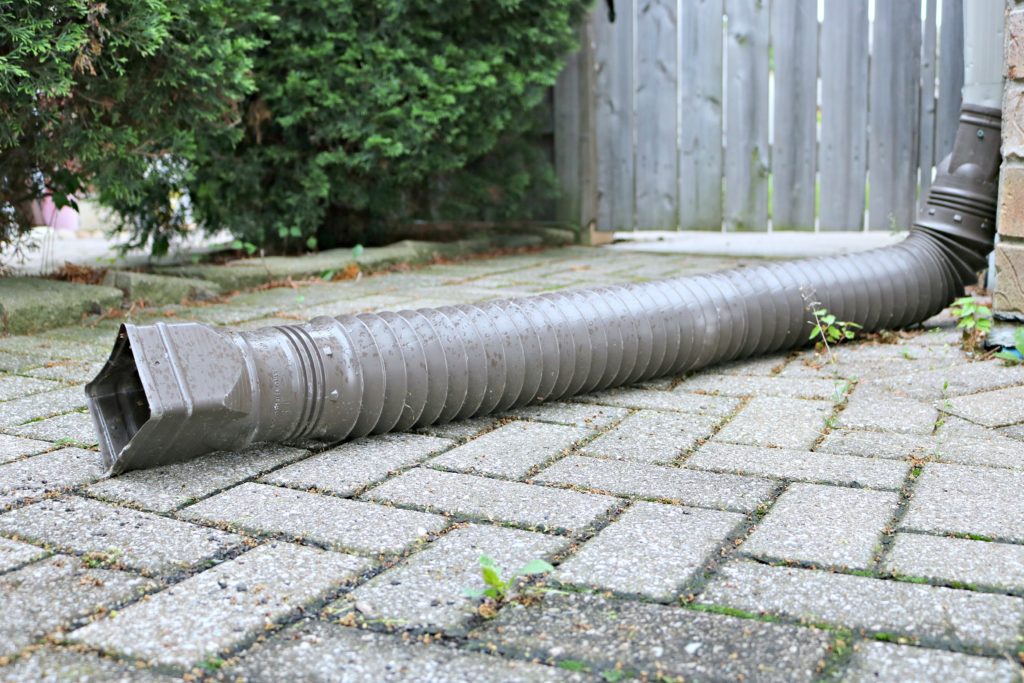
<path fill-rule="evenodd" d="M 609 22 L 603 4 L 595 8 L 597 59 L 596 128 L 597 224 L 632 229 L 635 221 L 633 158 L 633 2 L 615 2 Z"/>

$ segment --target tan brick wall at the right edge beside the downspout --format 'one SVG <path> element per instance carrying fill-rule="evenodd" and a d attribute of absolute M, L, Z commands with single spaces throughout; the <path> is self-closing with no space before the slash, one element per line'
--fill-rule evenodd
<path fill-rule="evenodd" d="M 1024 312 L 1024 2 L 1008 5 L 994 305 Z"/>

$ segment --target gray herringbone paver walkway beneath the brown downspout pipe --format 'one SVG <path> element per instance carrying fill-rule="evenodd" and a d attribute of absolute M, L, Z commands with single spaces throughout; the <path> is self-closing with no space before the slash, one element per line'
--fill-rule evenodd
<path fill-rule="evenodd" d="M 144 311 L 256 327 L 716 269 L 601 249 Z M 948 327 L 102 479 L 118 321 L 0 338 L 0 681 L 1017 681 L 1024 368 Z M 554 571 L 480 605 L 478 559 Z"/>

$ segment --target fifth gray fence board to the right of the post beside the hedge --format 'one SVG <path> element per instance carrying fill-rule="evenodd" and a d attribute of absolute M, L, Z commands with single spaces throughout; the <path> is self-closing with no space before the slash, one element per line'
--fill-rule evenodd
<path fill-rule="evenodd" d="M 774 0 L 771 43 L 775 62 L 772 229 L 813 230 L 817 159 L 817 3 Z"/>

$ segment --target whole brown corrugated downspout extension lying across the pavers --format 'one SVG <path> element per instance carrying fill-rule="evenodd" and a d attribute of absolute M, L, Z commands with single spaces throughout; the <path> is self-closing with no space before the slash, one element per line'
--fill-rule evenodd
<path fill-rule="evenodd" d="M 965 105 L 893 247 L 642 285 L 227 332 L 125 325 L 87 387 L 111 473 L 254 441 L 340 441 L 807 343 L 810 301 L 866 331 L 942 310 L 992 248 L 999 112 Z"/>

